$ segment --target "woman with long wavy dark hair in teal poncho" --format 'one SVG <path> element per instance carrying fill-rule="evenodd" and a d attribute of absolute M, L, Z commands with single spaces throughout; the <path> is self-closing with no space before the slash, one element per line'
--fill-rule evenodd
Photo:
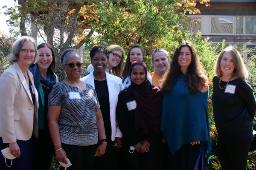
<path fill-rule="evenodd" d="M 208 120 L 208 78 L 195 48 L 182 42 L 175 51 L 162 86 L 161 130 L 168 143 L 168 169 L 203 170 L 211 142 Z"/>

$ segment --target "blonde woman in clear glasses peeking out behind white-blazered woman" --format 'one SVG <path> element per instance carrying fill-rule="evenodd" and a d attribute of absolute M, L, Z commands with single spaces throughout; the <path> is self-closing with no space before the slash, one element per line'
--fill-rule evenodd
<path fill-rule="evenodd" d="M 109 51 L 109 58 L 108 58 L 108 65 L 107 65 L 107 72 L 109 74 L 115 75 L 117 77 L 122 78 L 122 71 L 123 71 L 123 62 L 124 62 L 124 52 L 119 45 L 109 45 L 107 47 Z M 93 65 L 89 65 L 87 70 L 84 72 L 82 77 L 87 76 L 94 70 Z"/>

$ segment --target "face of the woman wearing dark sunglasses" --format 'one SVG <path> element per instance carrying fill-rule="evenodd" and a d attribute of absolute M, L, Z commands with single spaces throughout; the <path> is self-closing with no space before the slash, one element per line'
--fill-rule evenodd
<path fill-rule="evenodd" d="M 81 62 L 81 57 L 77 54 L 70 54 L 67 58 L 67 61 L 65 64 L 69 64 L 69 63 L 79 63 Z M 77 65 L 75 65 L 75 67 L 70 68 L 68 65 L 62 65 L 64 70 L 67 73 L 67 77 L 69 79 L 79 79 L 80 74 L 82 73 L 82 67 L 78 68 Z"/>

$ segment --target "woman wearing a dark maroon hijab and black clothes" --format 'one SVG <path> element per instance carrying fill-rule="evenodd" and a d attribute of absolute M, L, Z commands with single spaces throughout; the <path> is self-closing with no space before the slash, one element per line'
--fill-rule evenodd
<path fill-rule="evenodd" d="M 131 85 L 118 97 L 116 117 L 123 134 L 127 170 L 160 169 L 163 97 L 160 90 L 150 84 L 146 73 L 144 62 L 133 62 Z"/>

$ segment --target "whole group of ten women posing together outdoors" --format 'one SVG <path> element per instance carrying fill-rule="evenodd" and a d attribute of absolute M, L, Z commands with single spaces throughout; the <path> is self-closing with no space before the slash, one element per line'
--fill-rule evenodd
<path fill-rule="evenodd" d="M 7 57 L 14 64 L 0 77 L 0 150 L 17 158 L 0 158 L 0 169 L 48 170 L 55 154 L 61 170 L 203 170 L 209 90 L 193 45 L 181 43 L 172 61 L 157 48 L 152 73 L 140 45 L 129 49 L 124 69 L 119 45 L 96 46 L 90 57 L 80 78 L 79 52 L 65 50 L 67 77 L 58 82 L 49 44 L 36 47 L 26 36 L 14 43 Z M 218 158 L 223 170 L 246 170 L 256 101 L 235 48 L 221 52 L 215 74 Z"/>

